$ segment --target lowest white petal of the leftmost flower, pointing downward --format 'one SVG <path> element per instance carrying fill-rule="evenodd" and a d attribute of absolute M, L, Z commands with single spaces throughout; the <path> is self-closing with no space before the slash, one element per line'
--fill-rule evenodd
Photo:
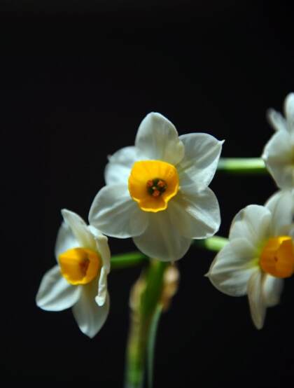
<path fill-rule="evenodd" d="M 85 335 L 93 338 L 104 325 L 109 314 L 109 296 L 102 307 L 95 301 L 97 293 L 97 282 L 83 286 L 80 299 L 73 306 L 73 317 Z"/>

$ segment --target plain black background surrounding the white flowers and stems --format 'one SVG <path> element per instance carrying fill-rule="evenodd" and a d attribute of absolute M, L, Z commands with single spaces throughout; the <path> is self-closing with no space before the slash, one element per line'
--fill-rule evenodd
<path fill-rule="evenodd" d="M 290 3 L 290 2 L 289 2 Z M 66 207 L 87 219 L 107 155 L 134 143 L 146 113 L 180 134 L 225 139 L 224 157 L 260 156 L 293 88 L 293 13 L 269 1 L 3 1 L 1 3 L 2 380 L 122 387 L 130 287 L 109 277 L 111 311 L 90 340 L 71 311 L 34 302 Z M 216 174 L 220 235 L 276 190 L 269 176 Z M 4 198 L 4 197 L 3 197 Z M 110 240 L 113 253 L 132 240 Z M 257 331 L 246 298 L 204 278 L 214 254 L 191 248 L 162 317 L 156 387 L 293 384 L 293 279 Z M 288 380 L 287 380 L 288 379 Z"/>

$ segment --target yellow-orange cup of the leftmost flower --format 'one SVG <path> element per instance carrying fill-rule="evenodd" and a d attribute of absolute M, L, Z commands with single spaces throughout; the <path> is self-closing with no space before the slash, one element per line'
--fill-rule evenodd
<path fill-rule="evenodd" d="M 97 252 L 80 247 L 63 252 L 58 261 L 62 276 L 74 286 L 92 282 L 102 267 L 102 260 Z"/>

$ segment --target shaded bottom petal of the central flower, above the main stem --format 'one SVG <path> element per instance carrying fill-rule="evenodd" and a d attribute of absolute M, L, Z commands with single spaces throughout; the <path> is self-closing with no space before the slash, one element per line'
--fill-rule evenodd
<path fill-rule="evenodd" d="M 176 261 L 188 251 L 191 239 L 183 237 L 172 225 L 169 212 L 148 214 L 148 227 L 134 243 L 144 254 L 161 261 Z"/>

